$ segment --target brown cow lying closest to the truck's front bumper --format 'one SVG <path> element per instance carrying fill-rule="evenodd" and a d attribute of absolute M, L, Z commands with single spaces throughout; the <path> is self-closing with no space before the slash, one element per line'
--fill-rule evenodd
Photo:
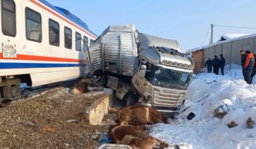
<path fill-rule="evenodd" d="M 118 122 L 128 122 L 128 124 L 133 126 L 156 124 L 159 122 L 168 124 L 168 118 L 162 113 L 142 105 L 134 105 L 119 109 L 116 115 Z"/>

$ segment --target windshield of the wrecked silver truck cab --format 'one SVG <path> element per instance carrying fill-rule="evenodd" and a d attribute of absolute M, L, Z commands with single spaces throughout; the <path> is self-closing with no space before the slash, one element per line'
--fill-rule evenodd
<path fill-rule="evenodd" d="M 150 82 L 160 87 L 187 89 L 190 73 L 155 67 Z"/>

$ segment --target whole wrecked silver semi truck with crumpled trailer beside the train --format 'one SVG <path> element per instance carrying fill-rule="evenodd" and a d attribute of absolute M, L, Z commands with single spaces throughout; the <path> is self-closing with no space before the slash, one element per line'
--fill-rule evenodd
<path fill-rule="evenodd" d="M 140 33 L 134 25 L 113 25 L 87 52 L 90 74 L 101 75 L 126 105 L 140 102 L 164 113 L 179 112 L 194 62 L 177 40 Z"/>

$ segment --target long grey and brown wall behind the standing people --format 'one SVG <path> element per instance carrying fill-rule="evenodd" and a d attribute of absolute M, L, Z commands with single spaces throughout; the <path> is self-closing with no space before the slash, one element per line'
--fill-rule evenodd
<path fill-rule="evenodd" d="M 240 61 L 240 50 L 251 51 L 256 54 L 256 38 L 246 38 L 242 40 L 229 41 L 227 43 L 220 43 L 212 47 L 202 49 L 201 51 L 192 52 L 193 60 L 195 62 L 195 71 L 199 72 L 203 67 L 204 63 L 217 55 L 220 58 L 220 54 L 224 55 L 226 64 L 237 63 L 241 64 Z M 203 57 L 202 57 L 203 56 Z"/>

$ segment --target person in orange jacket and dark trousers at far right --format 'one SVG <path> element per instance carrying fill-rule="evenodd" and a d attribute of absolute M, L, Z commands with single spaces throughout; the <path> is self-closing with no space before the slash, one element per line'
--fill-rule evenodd
<path fill-rule="evenodd" d="M 246 54 L 246 63 L 244 63 L 244 78 L 248 84 L 251 84 L 252 80 L 250 75 L 254 65 L 254 56 L 251 51 L 246 51 Z"/>

